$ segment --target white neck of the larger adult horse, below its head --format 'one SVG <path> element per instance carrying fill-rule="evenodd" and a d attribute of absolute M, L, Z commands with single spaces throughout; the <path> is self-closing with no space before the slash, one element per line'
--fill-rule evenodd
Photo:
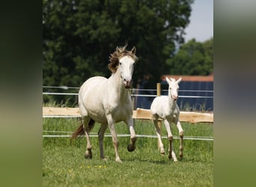
<path fill-rule="evenodd" d="M 118 96 L 118 98 L 127 99 L 127 95 L 129 94 L 128 89 L 124 88 L 124 85 L 122 83 L 121 79 L 121 72 L 117 70 L 115 74 L 112 74 L 112 76 L 109 78 L 110 88 Z"/>

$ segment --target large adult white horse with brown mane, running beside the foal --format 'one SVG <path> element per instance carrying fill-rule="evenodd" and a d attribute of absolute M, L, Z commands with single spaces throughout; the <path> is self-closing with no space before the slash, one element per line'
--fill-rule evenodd
<path fill-rule="evenodd" d="M 112 76 L 106 79 L 102 76 L 94 76 L 82 85 L 79 90 L 79 110 L 82 115 L 82 125 L 73 132 L 72 138 L 85 135 L 87 147 L 85 158 L 91 159 L 91 142 L 89 132 L 95 121 L 101 123 L 98 132 L 100 142 L 100 158 L 106 160 L 103 153 L 103 138 L 107 127 L 112 135 L 115 147 L 115 161 L 121 162 L 118 154 L 118 137 L 115 132 L 115 123 L 124 121 L 130 132 L 130 144 L 127 150 L 135 150 L 135 130 L 132 120 L 132 99 L 129 88 L 132 83 L 132 73 L 135 60 L 135 46 L 131 51 L 126 50 L 127 45 L 117 47 L 110 55 L 109 70 Z"/>

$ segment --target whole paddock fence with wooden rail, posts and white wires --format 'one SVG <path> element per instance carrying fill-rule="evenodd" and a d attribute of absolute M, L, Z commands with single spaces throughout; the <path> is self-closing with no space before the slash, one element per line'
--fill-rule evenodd
<path fill-rule="evenodd" d="M 50 88 L 50 87 L 43 87 Z M 66 87 L 52 87 L 52 88 L 61 88 L 67 90 Z M 156 95 L 148 95 L 148 96 L 159 96 L 161 94 L 161 88 L 156 85 Z M 78 96 L 78 93 L 52 93 L 52 92 L 43 92 L 43 95 L 70 95 L 70 96 Z M 132 94 L 132 96 L 147 96 L 147 95 L 138 95 Z M 191 96 L 190 96 L 191 97 Z M 79 112 L 79 108 L 69 108 L 69 107 L 43 107 L 43 118 L 51 118 L 51 117 L 81 117 Z M 152 116 L 150 114 L 149 109 L 144 108 L 136 108 L 132 112 L 132 118 L 134 120 L 152 120 Z M 159 119 L 161 120 L 161 119 Z M 213 124 L 213 112 L 195 112 L 195 111 L 180 111 L 180 122 L 189 122 L 189 123 L 206 123 Z M 162 127 L 161 122 L 159 122 L 159 127 Z M 46 131 L 44 131 L 46 132 Z M 72 132 L 55 132 L 58 135 L 43 135 L 43 137 L 48 138 L 58 138 L 58 137 L 70 137 Z M 60 133 L 70 133 L 70 135 L 60 135 Z M 110 137 L 110 134 L 105 135 L 106 137 Z M 118 137 L 126 137 L 129 134 L 118 134 Z M 157 138 L 156 135 L 136 135 L 137 137 L 143 138 Z M 97 134 L 91 134 L 91 137 L 97 137 Z M 166 137 L 162 137 L 166 138 Z M 174 136 L 174 138 L 180 138 L 178 136 Z M 184 137 L 184 139 L 189 140 L 202 140 L 202 141 L 213 141 L 213 137 Z"/>

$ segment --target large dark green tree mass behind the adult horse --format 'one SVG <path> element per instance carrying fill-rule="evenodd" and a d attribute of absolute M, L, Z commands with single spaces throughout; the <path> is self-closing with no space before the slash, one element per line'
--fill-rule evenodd
<path fill-rule="evenodd" d="M 43 85 L 80 86 L 110 76 L 116 46 L 136 46 L 134 85 L 155 86 L 167 73 L 175 43 L 183 43 L 193 0 L 43 0 Z"/>

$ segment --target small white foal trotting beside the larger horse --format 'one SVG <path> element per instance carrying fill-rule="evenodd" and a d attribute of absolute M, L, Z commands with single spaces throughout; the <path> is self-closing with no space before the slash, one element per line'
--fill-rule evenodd
<path fill-rule="evenodd" d="M 180 109 L 177 105 L 177 98 L 178 98 L 178 89 L 179 83 L 181 78 L 175 81 L 175 79 L 168 79 L 165 78 L 168 82 L 169 89 L 168 89 L 168 96 L 157 96 L 153 99 L 153 102 L 150 106 L 150 112 L 153 115 L 153 123 L 156 126 L 156 135 L 158 137 L 160 153 L 162 155 L 165 154 L 165 150 L 163 148 L 162 139 L 161 139 L 161 132 L 158 126 L 158 119 L 159 117 L 164 120 L 165 128 L 168 132 L 168 141 L 169 141 L 169 149 L 168 149 L 168 158 L 171 157 L 174 159 L 174 162 L 177 162 L 177 157 L 174 153 L 173 149 L 173 135 L 171 134 L 171 122 L 174 122 L 177 125 L 177 129 L 179 130 L 180 134 L 180 158 L 183 156 L 183 129 L 180 125 Z"/>

